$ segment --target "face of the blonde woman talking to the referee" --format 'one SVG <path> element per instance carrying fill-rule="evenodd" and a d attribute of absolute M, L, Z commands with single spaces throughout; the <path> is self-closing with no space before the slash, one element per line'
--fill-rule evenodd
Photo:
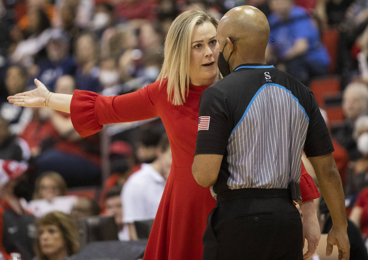
<path fill-rule="evenodd" d="M 210 85 L 217 79 L 219 43 L 216 28 L 210 22 L 197 25 L 191 39 L 190 80 L 197 86 Z"/>

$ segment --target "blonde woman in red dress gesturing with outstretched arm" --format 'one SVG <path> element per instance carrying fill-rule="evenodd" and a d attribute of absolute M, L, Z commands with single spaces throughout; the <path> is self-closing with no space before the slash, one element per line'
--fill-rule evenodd
<path fill-rule="evenodd" d="M 96 133 L 103 124 L 160 116 L 169 137 L 173 162 L 148 239 L 145 260 L 202 258 L 202 235 L 215 199 L 209 188 L 195 182 L 191 166 L 199 98 L 204 89 L 219 79 L 216 28 L 217 20 L 206 12 L 180 14 L 166 36 L 158 81 L 133 93 L 115 97 L 80 90 L 72 96 L 56 94 L 35 79 L 37 89 L 8 97 L 14 105 L 47 106 L 71 113 L 73 125 L 81 136 Z M 301 183 L 304 183 L 305 201 L 319 196 L 309 175 L 302 177 Z M 308 212 L 314 213 L 309 209 Z M 310 215 L 313 219 L 313 214 Z M 314 226 L 318 227 L 318 221 Z M 308 225 L 307 239 L 308 236 L 316 239 L 317 232 L 311 230 Z"/>

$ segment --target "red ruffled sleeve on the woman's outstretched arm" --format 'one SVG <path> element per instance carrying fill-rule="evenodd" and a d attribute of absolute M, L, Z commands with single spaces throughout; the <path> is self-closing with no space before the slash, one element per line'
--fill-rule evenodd
<path fill-rule="evenodd" d="M 157 81 L 132 93 L 109 97 L 75 90 L 70 104 L 71 121 L 75 130 L 85 137 L 101 130 L 103 124 L 155 118 L 159 116 L 156 102 L 160 93 L 165 93 L 164 87 L 160 88 Z"/>

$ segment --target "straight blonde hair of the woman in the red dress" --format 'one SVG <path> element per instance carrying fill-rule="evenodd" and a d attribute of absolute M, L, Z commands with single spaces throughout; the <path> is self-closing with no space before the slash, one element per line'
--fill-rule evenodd
<path fill-rule="evenodd" d="M 164 61 L 157 80 L 167 78 L 167 101 L 174 105 L 183 105 L 188 95 L 191 39 L 195 26 L 205 22 L 217 30 L 218 21 L 212 15 L 190 10 L 178 15 L 167 31 Z"/>

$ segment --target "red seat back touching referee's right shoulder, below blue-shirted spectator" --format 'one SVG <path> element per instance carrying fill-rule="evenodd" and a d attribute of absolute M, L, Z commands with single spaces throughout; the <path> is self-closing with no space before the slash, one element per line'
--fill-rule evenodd
<path fill-rule="evenodd" d="M 314 97 L 319 107 L 325 107 L 325 97 L 327 95 L 336 94 L 340 91 L 340 77 L 339 76 L 327 76 L 312 79 L 309 83 Z"/>

